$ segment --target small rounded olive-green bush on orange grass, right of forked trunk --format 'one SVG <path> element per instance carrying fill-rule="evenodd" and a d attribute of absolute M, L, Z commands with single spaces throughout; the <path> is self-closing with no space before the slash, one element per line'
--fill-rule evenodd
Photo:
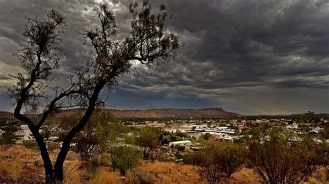
<path fill-rule="evenodd" d="M 113 169 L 119 169 L 122 176 L 128 169 L 136 167 L 142 159 L 142 153 L 131 145 L 114 145 L 110 149 Z"/>

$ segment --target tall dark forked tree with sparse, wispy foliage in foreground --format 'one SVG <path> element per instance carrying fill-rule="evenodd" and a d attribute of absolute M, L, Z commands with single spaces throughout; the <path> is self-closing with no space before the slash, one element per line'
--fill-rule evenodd
<path fill-rule="evenodd" d="M 100 4 L 96 8 L 99 26 L 84 30 L 85 39 L 92 44 L 92 61 L 69 77 L 71 85 L 67 89 L 56 87 L 54 91 L 58 93 L 53 98 L 45 94 L 49 89 L 47 81 L 51 71 L 59 66 L 62 52 L 58 41 L 65 17 L 51 10 L 47 12 L 47 19 L 28 19 L 24 31 L 26 47 L 17 53 L 24 73 L 15 75 L 17 84 L 8 92 L 16 100 L 15 117 L 28 125 L 37 141 L 47 183 L 62 183 L 63 164 L 71 140 L 85 127 L 96 106 L 102 104 L 99 93 L 104 86 L 115 85 L 118 77 L 134 69 L 132 62 L 151 67 L 174 55 L 179 47 L 178 36 L 167 33 L 165 9 L 165 6 L 160 6 L 160 11 L 154 15 L 148 1 L 140 7 L 137 3 L 130 3 L 130 34 L 118 39 L 115 37 L 115 15 L 108 4 Z M 42 100 L 48 105 L 38 120 L 22 113 L 24 107 L 42 106 Z M 55 109 L 74 106 L 85 107 L 85 112 L 65 136 L 53 166 L 44 137 L 39 133 L 40 127 Z"/>

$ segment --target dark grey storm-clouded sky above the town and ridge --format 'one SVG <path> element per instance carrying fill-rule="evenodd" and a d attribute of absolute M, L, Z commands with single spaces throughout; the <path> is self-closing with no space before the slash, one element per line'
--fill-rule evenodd
<path fill-rule="evenodd" d="M 108 1 L 118 33 L 128 32 L 128 1 Z M 151 0 L 167 5 L 167 28 L 183 44 L 176 59 L 121 77 L 110 93 L 117 109 L 222 107 L 248 114 L 329 113 L 328 0 Z M 56 8 L 67 17 L 65 56 L 56 73 L 88 58 L 78 33 L 96 23 L 88 0 L 0 0 L 0 111 L 19 71 L 11 54 L 23 45 L 24 17 Z M 60 77 L 59 77 L 60 78 Z"/>

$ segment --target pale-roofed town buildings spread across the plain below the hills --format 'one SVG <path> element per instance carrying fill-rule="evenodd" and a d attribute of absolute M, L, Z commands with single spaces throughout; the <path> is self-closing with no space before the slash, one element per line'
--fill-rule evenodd
<path fill-rule="evenodd" d="M 179 121 L 179 122 L 178 122 Z M 294 131 L 296 136 L 292 141 L 298 141 L 298 134 L 302 134 L 301 127 L 308 127 L 310 130 L 308 134 L 313 134 L 315 137 L 317 134 L 320 134 L 323 131 L 322 127 L 314 127 L 314 124 L 305 124 L 298 123 L 296 120 L 292 119 L 261 119 L 261 120 L 170 120 L 169 122 L 158 122 L 158 121 L 146 121 L 144 124 L 129 124 L 128 126 L 133 127 L 162 127 L 163 131 L 170 133 L 176 133 L 178 131 L 187 134 L 188 138 L 185 140 L 169 142 L 167 149 L 172 149 L 179 145 L 180 147 L 185 147 L 184 151 L 194 151 L 199 149 L 199 145 L 193 144 L 190 140 L 198 139 L 205 134 L 211 135 L 212 140 L 223 140 L 233 142 L 242 137 L 242 132 L 249 131 L 257 125 L 262 123 L 268 123 L 268 125 L 274 125 L 271 122 L 282 122 L 285 125 L 285 128 Z M 322 123 L 328 123 L 328 120 L 322 120 Z M 1 127 L 0 127 L 1 128 Z M 52 127 L 52 129 L 56 127 Z M 47 127 L 46 127 L 47 129 Z M 40 130 L 40 131 L 44 131 Z M 0 129 L 0 138 L 4 134 L 4 131 Z M 19 130 L 13 133 L 16 137 L 15 143 L 22 144 L 25 141 L 33 141 L 31 131 L 28 129 L 27 125 L 21 125 Z M 305 133 L 303 133 L 305 134 Z M 189 139 L 189 140 L 188 140 Z M 58 136 L 50 136 L 47 138 L 50 141 L 58 141 Z M 319 142 L 317 138 L 314 138 L 315 141 Z M 329 142 L 329 140 L 326 140 Z"/>

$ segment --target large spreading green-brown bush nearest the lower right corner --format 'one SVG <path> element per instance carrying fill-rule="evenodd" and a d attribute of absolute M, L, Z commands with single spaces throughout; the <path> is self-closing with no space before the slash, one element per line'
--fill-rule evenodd
<path fill-rule="evenodd" d="M 268 134 L 255 131 L 249 147 L 249 162 L 265 183 L 301 183 L 319 165 L 310 138 L 290 142 L 292 134 L 273 127 Z"/>

